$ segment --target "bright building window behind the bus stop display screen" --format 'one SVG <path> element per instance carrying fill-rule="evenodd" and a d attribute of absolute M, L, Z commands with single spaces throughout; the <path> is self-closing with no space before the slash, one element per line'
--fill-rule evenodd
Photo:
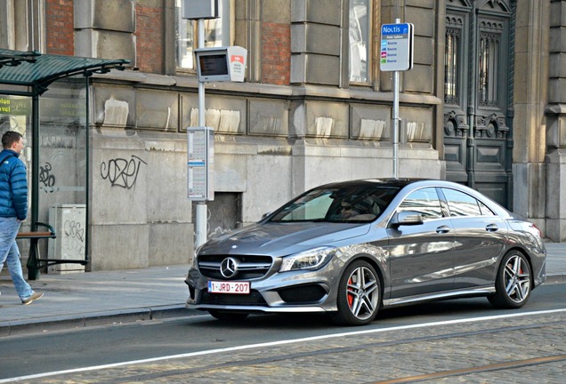
<path fill-rule="evenodd" d="M 182 18 L 182 0 L 175 0 L 176 14 L 176 60 L 178 68 L 194 69 L 193 50 L 198 48 L 198 20 Z M 230 0 L 218 1 L 218 19 L 204 20 L 205 46 L 231 45 Z"/>

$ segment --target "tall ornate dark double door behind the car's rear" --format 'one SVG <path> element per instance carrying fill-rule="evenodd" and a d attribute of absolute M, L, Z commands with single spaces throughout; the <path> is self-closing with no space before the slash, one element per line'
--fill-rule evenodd
<path fill-rule="evenodd" d="M 446 177 L 511 209 L 514 2 L 446 4 Z"/>

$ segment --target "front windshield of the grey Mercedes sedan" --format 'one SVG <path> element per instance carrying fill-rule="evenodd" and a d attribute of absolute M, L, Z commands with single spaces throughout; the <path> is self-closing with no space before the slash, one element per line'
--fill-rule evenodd
<path fill-rule="evenodd" d="M 315 188 L 275 212 L 269 221 L 369 222 L 376 220 L 399 188 Z"/>

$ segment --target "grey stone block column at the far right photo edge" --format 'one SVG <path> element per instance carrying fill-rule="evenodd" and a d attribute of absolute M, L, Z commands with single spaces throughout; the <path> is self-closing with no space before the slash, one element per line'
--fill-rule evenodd
<path fill-rule="evenodd" d="M 546 232 L 566 241 L 566 1 L 550 1 L 548 105 L 546 108 Z"/>

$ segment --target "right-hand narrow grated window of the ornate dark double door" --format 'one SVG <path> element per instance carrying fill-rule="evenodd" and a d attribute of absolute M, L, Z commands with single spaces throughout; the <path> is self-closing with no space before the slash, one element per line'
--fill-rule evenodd
<path fill-rule="evenodd" d="M 497 79 L 499 66 L 499 38 L 496 33 L 481 32 L 479 102 L 482 107 L 497 107 Z"/>

